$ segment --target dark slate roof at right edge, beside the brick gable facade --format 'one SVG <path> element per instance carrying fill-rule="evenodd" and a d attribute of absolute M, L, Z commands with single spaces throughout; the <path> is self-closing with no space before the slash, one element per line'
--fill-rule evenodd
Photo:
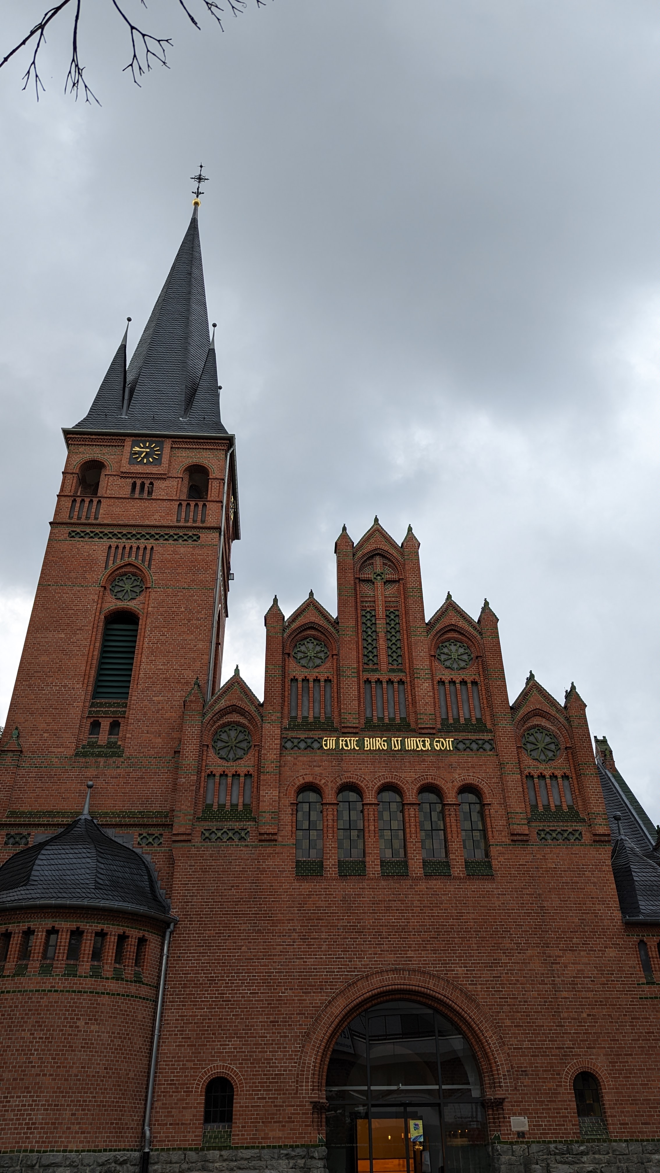
<path fill-rule="evenodd" d="M 598 759 L 597 765 L 612 832 L 612 872 L 621 916 L 627 923 L 660 924 L 660 852 L 653 850 L 653 823 L 619 771 Z"/>

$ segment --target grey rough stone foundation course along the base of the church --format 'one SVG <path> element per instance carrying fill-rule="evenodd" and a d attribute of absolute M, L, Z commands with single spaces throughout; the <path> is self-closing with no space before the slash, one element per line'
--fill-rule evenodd
<path fill-rule="evenodd" d="M 156 1150 L 149 1173 L 326 1173 L 326 1150 Z M 135 1173 L 136 1152 L 0 1153 L 0 1173 Z M 660 1140 L 493 1145 L 492 1173 L 660 1173 Z"/>

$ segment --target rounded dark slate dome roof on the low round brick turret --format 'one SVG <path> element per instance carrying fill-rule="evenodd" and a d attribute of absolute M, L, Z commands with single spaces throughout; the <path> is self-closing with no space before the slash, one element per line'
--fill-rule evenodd
<path fill-rule="evenodd" d="M 0 867 L 0 909 L 73 906 L 175 920 L 150 862 L 88 814 Z"/>

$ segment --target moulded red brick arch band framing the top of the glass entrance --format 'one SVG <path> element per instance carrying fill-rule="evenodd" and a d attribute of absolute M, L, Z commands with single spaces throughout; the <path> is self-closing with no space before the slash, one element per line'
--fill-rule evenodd
<path fill-rule="evenodd" d="M 501 1096 L 511 1090 L 513 1079 L 506 1045 L 476 998 L 454 982 L 424 970 L 382 969 L 350 982 L 314 1019 L 297 1064 L 301 1096 L 309 1100 L 324 1099 L 325 1069 L 339 1031 L 365 1006 L 393 997 L 430 1002 L 456 1022 L 474 1050 L 486 1096 Z"/>

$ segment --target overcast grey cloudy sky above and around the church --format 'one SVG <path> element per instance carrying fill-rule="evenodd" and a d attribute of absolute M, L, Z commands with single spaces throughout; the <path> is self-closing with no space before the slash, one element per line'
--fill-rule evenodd
<path fill-rule="evenodd" d="M 377 513 L 500 619 L 513 700 L 574 680 L 660 821 L 660 11 L 655 0 L 200 0 L 144 11 L 141 89 L 83 0 L 101 107 L 62 94 L 70 18 L 0 70 L 2 713 L 65 461 L 133 318 L 200 217 L 243 537 L 223 676 L 263 696 L 263 613 Z M 5 0 L 0 48 L 43 11 Z"/>

